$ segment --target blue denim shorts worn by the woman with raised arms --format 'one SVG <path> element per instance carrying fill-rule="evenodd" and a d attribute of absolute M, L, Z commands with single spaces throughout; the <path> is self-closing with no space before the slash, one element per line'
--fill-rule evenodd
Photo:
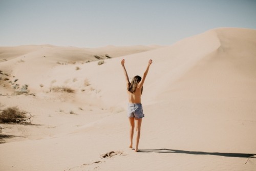
<path fill-rule="evenodd" d="M 143 109 L 141 103 L 128 103 L 127 117 L 143 118 Z"/>

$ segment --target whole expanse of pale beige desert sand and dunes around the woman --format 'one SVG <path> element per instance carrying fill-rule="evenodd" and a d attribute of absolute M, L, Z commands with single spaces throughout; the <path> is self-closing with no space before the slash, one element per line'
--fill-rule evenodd
<path fill-rule="evenodd" d="M 0 48 L 1 109 L 34 124 L 1 124 L 16 137 L 0 144 L 0 170 L 254 170 L 255 47 L 255 30 L 219 28 L 168 47 Z M 140 153 L 128 148 L 122 58 L 130 78 L 153 59 Z M 24 84 L 32 95 L 12 95 Z"/>

